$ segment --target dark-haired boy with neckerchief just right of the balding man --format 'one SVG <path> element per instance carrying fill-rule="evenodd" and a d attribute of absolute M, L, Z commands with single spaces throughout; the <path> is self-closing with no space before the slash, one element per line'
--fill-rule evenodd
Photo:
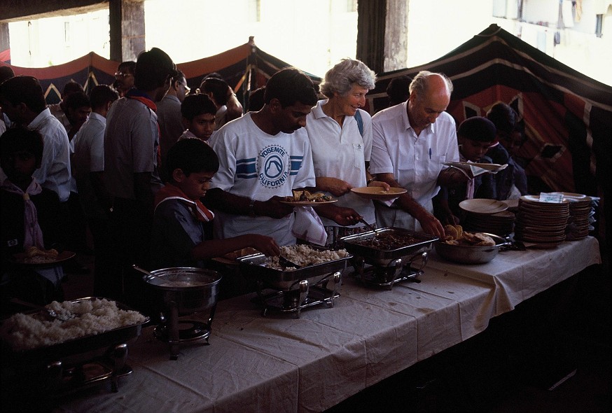
<path fill-rule="evenodd" d="M 485 162 L 491 160 L 485 157 L 489 146 L 495 140 L 495 125 L 487 118 L 474 116 L 464 120 L 457 130 L 459 143 L 459 160 L 461 162 Z M 434 198 L 436 217 L 443 224 L 457 225 L 461 223 L 462 211 L 459 202 L 471 200 L 483 180 L 491 180 L 491 174 L 478 175 L 454 188 L 440 187 L 440 192 Z"/>

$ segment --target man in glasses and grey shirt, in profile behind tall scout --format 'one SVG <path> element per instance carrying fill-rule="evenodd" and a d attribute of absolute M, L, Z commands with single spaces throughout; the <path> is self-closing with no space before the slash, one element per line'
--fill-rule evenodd
<path fill-rule="evenodd" d="M 160 124 L 160 156 L 162 161 L 162 179 L 163 168 L 168 150 L 176 143 L 185 128 L 182 123 L 181 103 L 185 100 L 189 87 L 187 80 L 182 71 L 172 78 L 170 88 L 166 92 L 163 99 L 155 102 L 158 106 L 158 123 Z"/>

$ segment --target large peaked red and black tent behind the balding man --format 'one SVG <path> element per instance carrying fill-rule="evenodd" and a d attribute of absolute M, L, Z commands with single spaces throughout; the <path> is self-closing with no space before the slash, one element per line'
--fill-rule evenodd
<path fill-rule="evenodd" d="M 457 125 L 485 116 L 498 102 L 513 106 L 527 135 L 520 155 L 536 188 L 609 200 L 612 87 L 491 25 L 433 62 L 381 73 L 368 94 L 370 111 L 387 107 L 391 79 L 422 70 L 442 72 L 452 80 L 447 112 Z M 609 211 L 607 206 L 604 210 Z"/>

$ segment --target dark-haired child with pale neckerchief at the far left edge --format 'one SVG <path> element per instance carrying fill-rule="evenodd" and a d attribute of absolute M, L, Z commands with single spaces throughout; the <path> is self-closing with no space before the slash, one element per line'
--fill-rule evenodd
<path fill-rule="evenodd" d="M 41 166 L 43 137 L 35 130 L 12 128 L 0 137 L 0 164 L 6 179 L 0 186 L 1 291 L 3 307 L 10 297 L 34 304 L 62 301 L 62 265 L 26 267 L 11 264 L 15 253 L 36 246 L 57 248 L 60 234 L 60 199 L 43 188 L 32 174 Z"/>

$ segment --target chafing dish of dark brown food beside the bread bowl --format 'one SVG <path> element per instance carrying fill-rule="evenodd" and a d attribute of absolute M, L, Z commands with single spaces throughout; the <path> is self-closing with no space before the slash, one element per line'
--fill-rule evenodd
<path fill-rule="evenodd" d="M 409 237 L 411 242 L 389 248 L 377 246 L 377 239 L 383 237 Z M 438 237 L 422 232 L 405 230 L 404 228 L 380 228 L 375 231 L 342 237 L 340 241 L 344 248 L 354 255 L 353 266 L 356 274 L 364 283 L 384 286 L 391 289 L 394 283 L 412 280 L 423 274 L 433 241 Z M 412 262 L 420 260 L 418 268 L 412 268 Z M 366 269 L 366 264 L 370 265 Z"/>

